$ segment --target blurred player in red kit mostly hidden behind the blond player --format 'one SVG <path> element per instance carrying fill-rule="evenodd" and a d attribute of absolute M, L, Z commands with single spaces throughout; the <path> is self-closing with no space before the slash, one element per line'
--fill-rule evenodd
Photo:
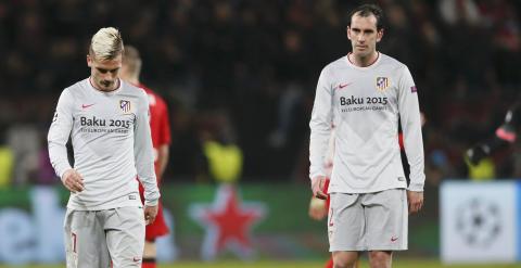
<path fill-rule="evenodd" d="M 168 163 L 168 146 L 170 144 L 170 124 L 168 122 L 168 109 L 165 101 L 151 89 L 139 82 L 139 74 L 141 72 L 141 58 L 136 48 L 125 46 L 125 53 L 123 56 L 123 66 L 120 77 L 142 88 L 149 95 L 150 104 L 150 130 L 152 135 L 152 143 L 154 146 L 154 165 L 157 177 L 157 184 L 161 182 L 166 164 Z M 139 186 L 141 200 L 143 200 L 143 187 Z M 143 252 L 143 268 L 156 267 L 156 248 L 155 239 L 165 235 L 169 232 L 163 216 L 163 205 L 160 206 L 155 221 L 147 226 L 144 252 Z"/>

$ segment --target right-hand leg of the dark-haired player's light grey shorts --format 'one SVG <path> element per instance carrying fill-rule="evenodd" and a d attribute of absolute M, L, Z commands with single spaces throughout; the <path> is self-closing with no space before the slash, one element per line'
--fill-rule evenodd
<path fill-rule="evenodd" d="M 369 251 L 407 250 L 407 193 L 390 189 L 364 195 L 367 218 L 366 242 Z"/>

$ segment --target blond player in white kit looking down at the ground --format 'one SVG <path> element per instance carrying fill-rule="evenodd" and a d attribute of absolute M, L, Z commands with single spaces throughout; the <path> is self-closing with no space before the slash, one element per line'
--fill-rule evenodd
<path fill-rule="evenodd" d="M 117 29 L 93 35 L 90 77 L 63 90 L 49 129 L 51 164 L 71 191 L 67 268 L 140 267 L 145 225 L 157 214 L 148 97 L 119 79 L 123 53 Z M 69 137 L 74 166 L 65 146 Z M 136 178 L 144 188 L 144 208 Z"/>

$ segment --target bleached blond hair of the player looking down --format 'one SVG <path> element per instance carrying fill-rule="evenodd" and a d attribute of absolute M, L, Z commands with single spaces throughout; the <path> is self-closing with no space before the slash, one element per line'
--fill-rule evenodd
<path fill-rule="evenodd" d="M 92 36 L 89 54 L 100 61 L 114 60 L 124 52 L 123 38 L 114 27 L 101 28 Z"/>

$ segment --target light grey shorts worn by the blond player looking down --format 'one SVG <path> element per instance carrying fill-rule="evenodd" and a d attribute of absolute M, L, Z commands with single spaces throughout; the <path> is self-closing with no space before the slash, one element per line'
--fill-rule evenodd
<path fill-rule="evenodd" d="M 141 267 L 143 208 L 126 206 L 65 214 L 67 268 Z"/>

